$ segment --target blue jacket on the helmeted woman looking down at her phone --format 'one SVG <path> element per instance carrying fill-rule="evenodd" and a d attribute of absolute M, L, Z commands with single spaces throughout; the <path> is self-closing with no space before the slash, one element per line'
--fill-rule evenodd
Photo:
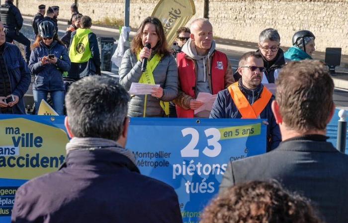
<path fill-rule="evenodd" d="M 57 63 L 42 65 L 41 58 L 54 54 Z M 70 70 L 70 58 L 64 45 L 54 41 L 50 48 L 41 41 L 40 47 L 31 51 L 29 69 L 35 74 L 33 89 L 44 91 L 64 91 L 63 72 Z"/>

